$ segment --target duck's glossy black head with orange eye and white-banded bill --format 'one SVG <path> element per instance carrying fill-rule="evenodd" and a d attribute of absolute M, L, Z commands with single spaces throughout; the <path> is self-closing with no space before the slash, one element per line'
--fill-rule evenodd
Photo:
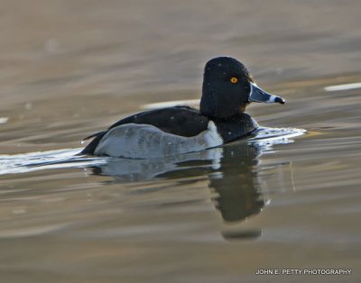
<path fill-rule="evenodd" d="M 200 113 L 227 118 L 245 112 L 251 102 L 280 103 L 284 99 L 257 87 L 245 65 L 230 57 L 210 59 L 204 69 Z"/>

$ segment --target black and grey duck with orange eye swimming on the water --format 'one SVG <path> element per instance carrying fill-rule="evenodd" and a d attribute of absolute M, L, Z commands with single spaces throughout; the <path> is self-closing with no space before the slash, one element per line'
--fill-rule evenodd
<path fill-rule="evenodd" d="M 231 57 L 208 60 L 199 109 L 176 105 L 125 117 L 96 132 L 79 155 L 129 159 L 162 158 L 222 146 L 255 132 L 259 125 L 245 113 L 252 102 L 285 104 L 258 87 L 245 65 Z"/>

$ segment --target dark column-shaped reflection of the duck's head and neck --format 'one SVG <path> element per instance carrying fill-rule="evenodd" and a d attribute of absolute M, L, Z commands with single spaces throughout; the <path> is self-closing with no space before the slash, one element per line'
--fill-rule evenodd
<path fill-rule="evenodd" d="M 223 148 L 221 166 L 209 174 L 209 187 L 217 192 L 217 207 L 226 222 L 261 212 L 264 200 L 256 169 L 260 154 L 260 149 L 246 143 L 227 145 Z"/>

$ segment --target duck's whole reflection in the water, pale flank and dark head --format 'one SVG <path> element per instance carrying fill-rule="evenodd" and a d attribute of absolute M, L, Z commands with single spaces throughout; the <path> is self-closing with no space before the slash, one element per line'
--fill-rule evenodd
<path fill-rule="evenodd" d="M 113 176 L 116 182 L 208 175 L 223 219 L 236 222 L 260 213 L 264 206 L 257 171 L 261 154 L 262 148 L 243 141 L 157 160 L 110 159 L 92 169 L 96 175 Z"/>

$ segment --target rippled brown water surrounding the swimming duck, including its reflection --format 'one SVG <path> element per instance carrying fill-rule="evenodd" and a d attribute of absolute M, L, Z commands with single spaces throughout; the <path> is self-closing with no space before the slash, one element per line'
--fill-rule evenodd
<path fill-rule="evenodd" d="M 360 13 L 356 0 L 2 1 L 0 282 L 359 282 L 361 89 L 325 87 L 361 82 Z M 218 55 L 288 101 L 249 106 L 258 123 L 308 133 L 69 158 L 142 105 L 199 98 Z M 274 268 L 352 274 L 255 275 Z"/>

